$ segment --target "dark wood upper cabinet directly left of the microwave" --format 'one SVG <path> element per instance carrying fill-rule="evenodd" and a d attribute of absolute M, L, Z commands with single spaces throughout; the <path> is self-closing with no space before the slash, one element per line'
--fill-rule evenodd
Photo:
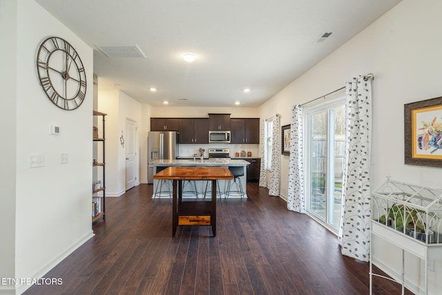
<path fill-rule="evenodd" d="M 209 119 L 206 118 L 180 119 L 180 143 L 208 144 Z"/>

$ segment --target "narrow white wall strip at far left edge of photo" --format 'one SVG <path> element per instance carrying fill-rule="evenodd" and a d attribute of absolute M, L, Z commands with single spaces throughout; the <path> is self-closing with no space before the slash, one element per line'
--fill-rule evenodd
<path fill-rule="evenodd" d="M 3 155 L 0 165 L 0 278 L 15 277 L 15 186 L 17 148 L 17 2 L 0 1 L 1 95 L 0 126 Z M 13 292 L 12 286 L 0 285 L 0 294 Z"/>

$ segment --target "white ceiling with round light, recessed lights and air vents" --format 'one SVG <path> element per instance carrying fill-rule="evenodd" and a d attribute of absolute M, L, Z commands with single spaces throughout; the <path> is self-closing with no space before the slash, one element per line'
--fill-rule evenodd
<path fill-rule="evenodd" d="M 36 1 L 94 48 L 99 89 L 153 106 L 259 106 L 401 0 Z M 98 49 L 122 45 L 146 57 Z"/>

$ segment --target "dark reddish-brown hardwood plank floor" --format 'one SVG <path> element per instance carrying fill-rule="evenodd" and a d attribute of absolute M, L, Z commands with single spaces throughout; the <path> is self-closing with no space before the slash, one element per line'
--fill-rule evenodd
<path fill-rule="evenodd" d="M 178 227 L 152 185 L 106 198 L 95 236 L 25 294 L 369 294 L 369 265 L 342 256 L 336 236 L 281 198 L 247 184 L 247 202 L 218 202 L 211 227 Z M 374 294 L 401 287 L 374 278 Z M 407 291 L 407 294 L 412 294 Z"/>

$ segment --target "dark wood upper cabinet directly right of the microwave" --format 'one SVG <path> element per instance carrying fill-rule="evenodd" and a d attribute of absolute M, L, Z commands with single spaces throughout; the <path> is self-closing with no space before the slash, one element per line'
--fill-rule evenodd
<path fill-rule="evenodd" d="M 230 120 L 232 144 L 259 144 L 260 120 L 258 118 L 232 118 Z"/>

